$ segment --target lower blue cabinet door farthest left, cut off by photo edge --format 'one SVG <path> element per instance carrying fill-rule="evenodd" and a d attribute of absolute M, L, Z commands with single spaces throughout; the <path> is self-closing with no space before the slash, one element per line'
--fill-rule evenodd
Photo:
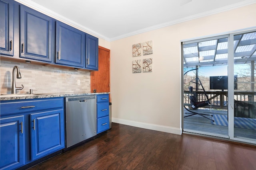
<path fill-rule="evenodd" d="M 0 119 L 0 169 L 24 165 L 24 116 Z"/>

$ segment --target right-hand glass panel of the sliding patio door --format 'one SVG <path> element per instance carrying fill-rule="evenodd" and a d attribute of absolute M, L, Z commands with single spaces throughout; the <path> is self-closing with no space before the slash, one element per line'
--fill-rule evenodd
<path fill-rule="evenodd" d="M 256 32 L 234 35 L 234 138 L 256 140 Z"/>

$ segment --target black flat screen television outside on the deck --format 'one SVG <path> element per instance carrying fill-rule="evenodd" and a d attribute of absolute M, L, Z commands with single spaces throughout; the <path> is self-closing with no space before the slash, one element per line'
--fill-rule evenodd
<path fill-rule="evenodd" d="M 211 90 L 228 90 L 228 76 L 210 76 Z M 237 90 L 237 75 L 234 76 L 234 90 Z"/>

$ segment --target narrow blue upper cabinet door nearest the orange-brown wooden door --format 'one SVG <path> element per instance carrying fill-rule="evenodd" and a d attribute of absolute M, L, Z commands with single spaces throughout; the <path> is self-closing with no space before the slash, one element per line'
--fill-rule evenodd
<path fill-rule="evenodd" d="M 86 68 L 98 70 L 98 38 L 86 34 Z"/>

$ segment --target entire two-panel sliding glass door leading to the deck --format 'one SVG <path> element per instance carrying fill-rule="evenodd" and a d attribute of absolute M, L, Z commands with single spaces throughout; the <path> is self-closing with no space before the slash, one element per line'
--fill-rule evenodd
<path fill-rule="evenodd" d="M 256 143 L 256 30 L 182 42 L 184 132 Z"/>

